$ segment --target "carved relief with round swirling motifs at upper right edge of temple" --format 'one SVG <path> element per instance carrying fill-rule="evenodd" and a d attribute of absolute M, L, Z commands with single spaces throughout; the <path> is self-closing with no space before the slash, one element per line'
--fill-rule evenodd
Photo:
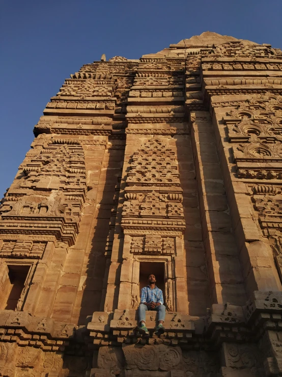
<path fill-rule="evenodd" d="M 237 163 L 237 177 L 282 178 L 282 96 L 253 95 L 223 118 Z M 240 144 L 239 144 L 240 143 Z M 260 167 L 253 162 L 259 162 Z"/>

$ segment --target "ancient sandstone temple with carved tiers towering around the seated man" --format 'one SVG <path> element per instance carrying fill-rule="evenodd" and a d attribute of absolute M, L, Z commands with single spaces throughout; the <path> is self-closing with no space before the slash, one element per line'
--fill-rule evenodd
<path fill-rule="evenodd" d="M 282 375 L 281 50 L 102 56 L 43 114 L 0 208 L 0 376 Z"/>

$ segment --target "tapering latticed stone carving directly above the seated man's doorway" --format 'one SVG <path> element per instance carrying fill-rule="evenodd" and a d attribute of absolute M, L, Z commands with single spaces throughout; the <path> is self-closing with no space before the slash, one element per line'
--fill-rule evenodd
<path fill-rule="evenodd" d="M 152 229 L 154 218 L 162 222 L 161 228 L 184 229 L 178 166 L 175 153 L 165 142 L 155 137 L 134 153 L 126 183 L 124 229 Z M 150 250 L 149 243 L 148 238 L 145 249 Z"/>

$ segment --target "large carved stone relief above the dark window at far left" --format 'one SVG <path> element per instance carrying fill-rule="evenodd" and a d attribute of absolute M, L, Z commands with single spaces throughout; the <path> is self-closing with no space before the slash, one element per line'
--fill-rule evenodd
<path fill-rule="evenodd" d="M 0 208 L 0 233 L 73 244 L 86 197 L 81 145 L 46 143 L 31 149 L 20 169 Z"/>

